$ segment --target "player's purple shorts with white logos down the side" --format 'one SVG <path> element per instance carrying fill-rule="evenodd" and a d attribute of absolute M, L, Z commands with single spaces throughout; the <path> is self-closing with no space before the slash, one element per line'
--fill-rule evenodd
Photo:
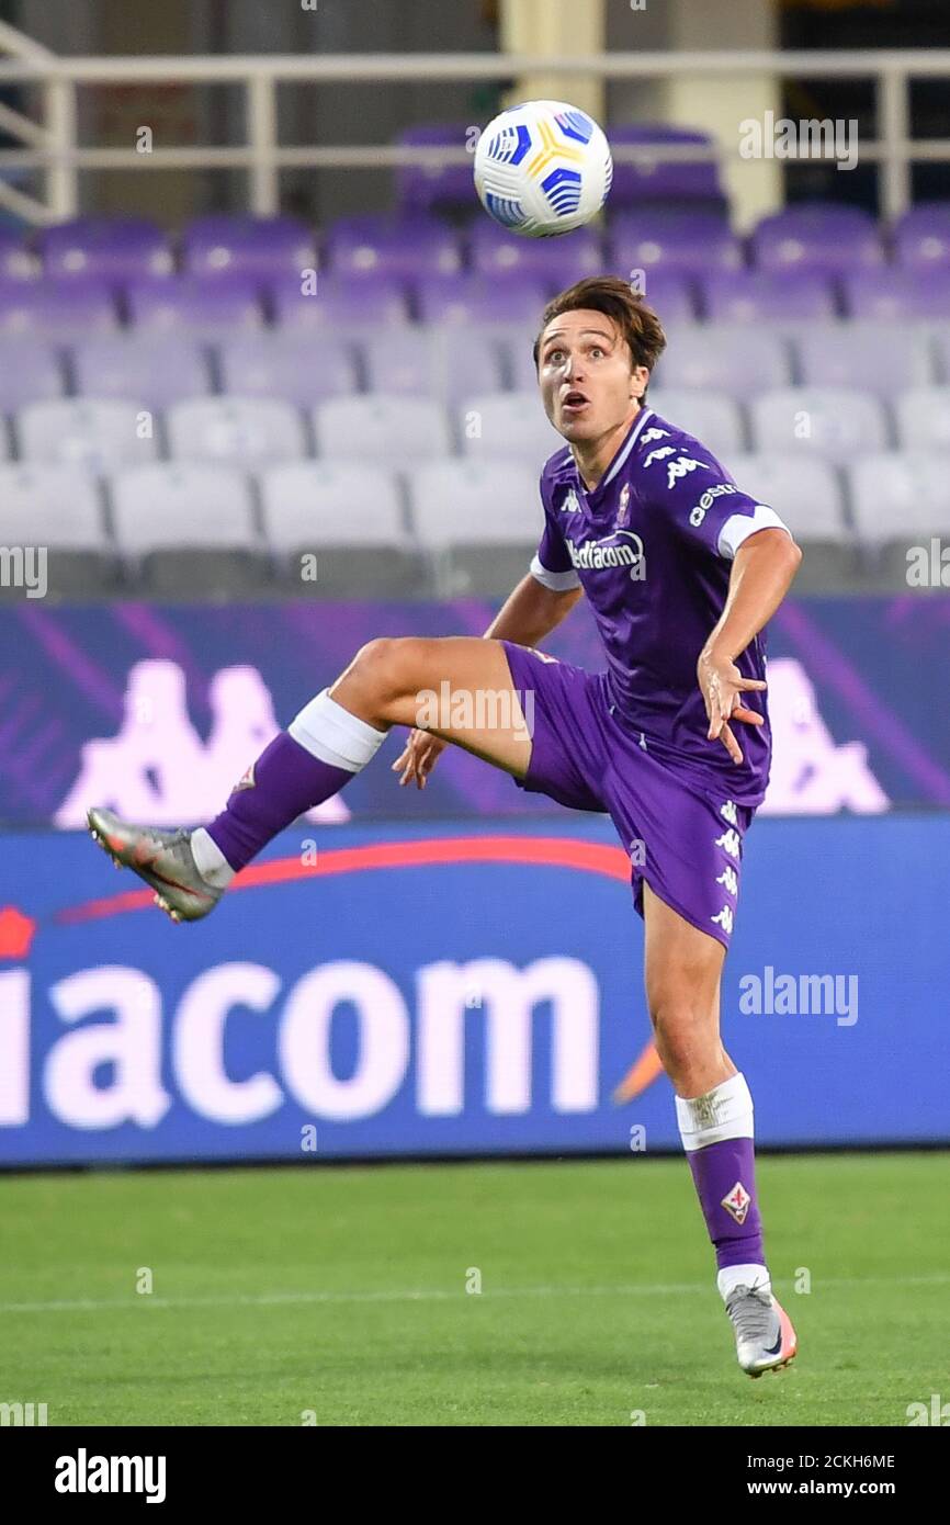
<path fill-rule="evenodd" d="M 651 753 L 642 732 L 615 717 L 607 674 L 511 640 L 502 645 L 514 688 L 534 705 L 534 715 L 526 714 L 531 762 L 518 788 L 572 810 L 605 811 L 630 857 L 639 913 L 647 880 L 680 917 L 729 947 L 752 807 L 714 787 L 698 790 Z"/>

